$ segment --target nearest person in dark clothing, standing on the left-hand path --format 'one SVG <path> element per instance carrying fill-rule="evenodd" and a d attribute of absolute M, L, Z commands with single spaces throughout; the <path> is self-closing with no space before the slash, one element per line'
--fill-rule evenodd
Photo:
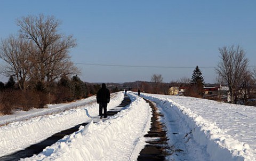
<path fill-rule="evenodd" d="M 100 118 L 102 116 L 104 118 L 107 118 L 107 106 L 110 101 L 110 92 L 108 88 L 106 87 L 105 83 L 102 83 L 100 90 L 97 93 L 97 103 L 99 103 L 99 115 Z M 104 110 L 104 114 L 102 114 L 102 110 Z"/>

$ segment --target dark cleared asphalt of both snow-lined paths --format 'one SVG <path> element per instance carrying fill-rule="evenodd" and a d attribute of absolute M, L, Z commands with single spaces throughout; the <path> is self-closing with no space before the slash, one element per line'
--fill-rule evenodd
<path fill-rule="evenodd" d="M 138 160 L 144 161 L 144 160 L 164 160 L 166 156 L 166 150 L 167 149 L 167 143 L 166 143 L 166 132 L 163 130 L 163 124 L 159 122 L 158 118 L 160 117 L 161 114 L 157 112 L 157 107 L 155 105 L 146 100 L 149 104 L 150 107 L 152 108 L 153 111 L 153 117 L 151 118 L 151 128 L 150 131 L 148 132 L 145 137 L 148 138 L 156 138 L 156 139 L 149 139 L 147 145 L 145 148 L 140 152 L 140 155 L 138 157 Z M 117 112 L 121 111 L 124 109 L 127 105 L 131 103 L 131 100 L 129 96 L 125 95 L 124 100 L 119 104 L 119 106 L 115 107 L 114 109 L 108 110 L 107 114 L 108 116 L 113 116 L 117 114 Z M 95 120 L 99 120 L 97 117 Z M 26 158 L 26 157 L 31 157 L 34 154 L 39 154 L 40 152 L 43 151 L 47 146 L 51 146 L 53 143 L 57 142 L 58 140 L 62 139 L 64 136 L 69 135 L 71 133 L 74 133 L 79 130 L 80 126 L 85 126 L 89 124 L 89 122 L 83 123 L 76 125 L 74 127 L 71 127 L 67 130 L 63 130 L 59 133 L 56 133 L 49 138 L 45 139 L 42 142 L 39 142 L 37 144 L 31 145 L 30 147 L 27 147 L 26 149 L 20 150 L 15 152 L 14 154 L 8 155 L 8 156 L 3 156 L 0 157 L 1 161 L 6 161 L 6 160 L 19 160 L 20 158 Z"/>

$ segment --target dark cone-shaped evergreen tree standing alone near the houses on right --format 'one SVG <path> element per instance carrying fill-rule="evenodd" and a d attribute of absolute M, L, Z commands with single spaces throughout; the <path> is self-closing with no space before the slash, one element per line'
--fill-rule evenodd
<path fill-rule="evenodd" d="M 204 77 L 202 76 L 201 70 L 196 66 L 196 69 L 193 71 L 193 75 L 190 79 L 191 87 L 195 88 L 195 92 L 199 95 L 203 95 L 204 92 Z"/>

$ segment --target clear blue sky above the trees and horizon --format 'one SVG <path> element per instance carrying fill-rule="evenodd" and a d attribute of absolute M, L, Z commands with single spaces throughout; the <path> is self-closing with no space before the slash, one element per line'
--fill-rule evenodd
<path fill-rule="evenodd" d="M 16 20 L 23 16 L 54 15 L 62 21 L 60 33 L 77 39 L 70 55 L 85 82 L 150 81 L 153 74 L 171 82 L 191 78 L 198 66 L 205 82 L 215 83 L 219 47 L 240 45 L 256 65 L 255 6 L 237 0 L 2 0 L 0 38 L 18 33 Z"/>

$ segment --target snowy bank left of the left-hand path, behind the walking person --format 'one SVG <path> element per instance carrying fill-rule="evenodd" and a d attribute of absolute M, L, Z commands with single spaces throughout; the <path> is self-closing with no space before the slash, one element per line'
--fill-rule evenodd
<path fill-rule="evenodd" d="M 122 92 L 111 95 L 108 109 L 118 106 L 123 98 Z M 3 124 L 11 120 L 20 121 L 0 126 L 0 156 L 9 155 L 31 144 L 41 142 L 52 134 L 89 122 L 91 116 L 97 115 L 98 104 L 95 96 L 92 96 L 73 103 L 51 105 L 46 109 L 21 111 L 15 115 L 1 116 L 0 120 Z"/>

